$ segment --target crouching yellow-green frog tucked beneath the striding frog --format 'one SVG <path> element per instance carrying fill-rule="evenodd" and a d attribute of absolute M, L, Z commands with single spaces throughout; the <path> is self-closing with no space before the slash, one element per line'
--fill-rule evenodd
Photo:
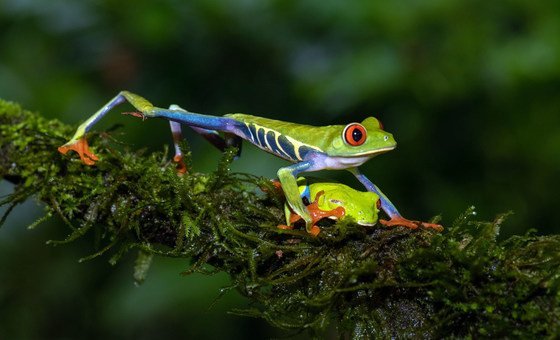
<path fill-rule="evenodd" d="M 358 191 L 341 183 L 308 183 L 303 177 L 297 179 L 300 196 L 313 220 L 311 234 L 318 234 L 315 223 L 323 218 L 345 219 L 352 217 L 363 226 L 377 223 L 381 200 L 371 191 Z M 284 205 L 286 225 L 282 229 L 292 229 L 292 224 L 301 219 L 286 202 Z"/>

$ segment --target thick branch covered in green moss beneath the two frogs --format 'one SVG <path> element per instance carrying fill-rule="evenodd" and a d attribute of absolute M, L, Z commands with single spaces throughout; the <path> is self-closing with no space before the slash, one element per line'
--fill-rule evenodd
<path fill-rule="evenodd" d="M 294 332 L 336 327 L 360 337 L 554 337 L 560 334 L 560 237 L 496 240 L 505 215 L 439 234 L 325 225 L 319 237 L 276 228 L 282 197 L 264 178 L 229 171 L 177 176 L 165 152 L 119 151 L 91 136 L 94 167 L 57 147 L 73 128 L 0 101 L 0 175 L 16 184 L 5 216 L 33 197 L 71 242 L 96 230 L 111 263 L 134 249 L 142 281 L 154 254 L 188 258 L 191 272 L 227 272 L 250 299 L 235 313 Z M 264 190 L 264 191 L 263 191 Z M 93 234 L 93 233 L 91 233 Z"/>

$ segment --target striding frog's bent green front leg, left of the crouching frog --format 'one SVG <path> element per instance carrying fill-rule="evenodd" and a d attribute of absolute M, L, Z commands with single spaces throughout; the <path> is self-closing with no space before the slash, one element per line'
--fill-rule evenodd
<path fill-rule="evenodd" d="M 292 210 L 305 221 L 305 229 L 309 233 L 311 233 L 313 229 L 313 219 L 301 200 L 296 176 L 301 172 L 311 169 L 312 166 L 312 161 L 303 161 L 278 170 L 278 179 L 282 185 L 286 201 Z"/>

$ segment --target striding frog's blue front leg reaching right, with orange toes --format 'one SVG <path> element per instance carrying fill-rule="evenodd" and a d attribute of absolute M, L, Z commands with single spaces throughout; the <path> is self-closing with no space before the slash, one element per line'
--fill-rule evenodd
<path fill-rule="evenodd" d="M 400 225 L 410 229 L 416 229 L 418 228 L 418 226 L 422 226 L 425 228 L 435 229 L 437 231 L 443 230 L 443 227 L 439 224 L 420 222 L 420 221 L 411 221 L 409 219 L 402 217 L 402 215 L 399 213 L 395 205 L 391 203 L 389 198 L 387 198 L 387 196 L 385 196 L 385 194 L 381 192 L 381 190 L 379 190 L 379 188 L 375 184 L 373 184 L 364 174 L 362 174 L 358 170 L 358 168 L 350 168 L 348 170 L 352 174 L 354 174 L 354 176 L 356 176 L 356 178 L 366 187 L 368 191 L 375 192 L 379 196 L 379 199 L 381 200 L 381 209 L 383 209 L 383 211 L 390 218 L 389 221 L 380 219 L 379 223 L 388 227 Z"/>

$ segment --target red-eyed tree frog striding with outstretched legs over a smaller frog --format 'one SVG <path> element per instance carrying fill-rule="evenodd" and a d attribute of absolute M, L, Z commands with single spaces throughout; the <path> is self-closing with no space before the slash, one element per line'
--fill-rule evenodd
<path fill-rule="evenodd" d="M 139 111 L 130 113 L 134 116 L 160 117 L 169 121 L 175 144 L 174 160 L 179 164 L 181 172 L 186 170 L 182 165 L 182 153 L 178 146 L 182 139 L 181 124 L 191 127 L 219 149 L 223 150 L 230 145 L 240 146 L 241 139 L 245 139 L 264 151 L 294 163 L 280 168 L 278 178 L 288 204 L 305 220 L 308 232 L 312 230 L 313 221 L 300 198 L 296 176 L 302 172 L 324 169 L 346 169 L 354 174 L 368 191 L 377 194 L 381 199 L 381 209 L 390 217 L 389 221 L 380 220 L 382 224 L 408 228 L 417 228 L 419 225 L 440 227 L 402 217 L 387 196 L 358 170 L 364 162 L 393 150 L 397 145 L 393 135 L 384 131 L 381 123 L 373 117 L 366 118 L 361 123 L 320 127 L 241 113 L 219 117 L 189 112 L 177 105 L 171 105 L 169 109 L 155 107 L 137 94 L 121 91 L 82 123 L 72 139 L 58 150 L 63 154 L 74 150 L 85 164 L 93 165 L 98 157 L 89 150 L 85 139 L 86 132 L 112 108 L 126 101 Z M 223 132 L 223 135 L 218 131 Z"/>

